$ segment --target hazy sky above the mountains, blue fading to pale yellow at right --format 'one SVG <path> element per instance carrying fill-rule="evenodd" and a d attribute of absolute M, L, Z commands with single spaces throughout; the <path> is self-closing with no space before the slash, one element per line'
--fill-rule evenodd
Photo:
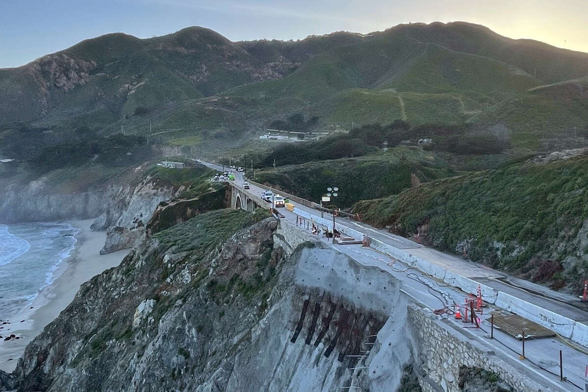
<path fill-rule="evenodd" d="M 0 68 L 110 32 L 149 38 L 196 25 L 232 41 L 301 39 L 433 21 L 588 52 L 588 0 L 0 0 Z"/>

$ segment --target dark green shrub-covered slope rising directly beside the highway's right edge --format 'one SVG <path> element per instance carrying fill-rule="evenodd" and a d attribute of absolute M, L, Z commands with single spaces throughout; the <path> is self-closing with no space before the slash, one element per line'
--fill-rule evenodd
<path fill-rule="evenodd" d="M 422 230 L 426 242 L 438 249 L 460 255 L 465 250 L 492 267 L 527 273 L 545 260 L 562 263 L 564 275 L 536 280 L 556 282 L 565 276 L 576 284 L 588 274 L 586 234 L 577 238 L 588 217 L 587 186 L 586 156 L 513 163 L 366 200 L 353 211 L 405 236 Z"/>

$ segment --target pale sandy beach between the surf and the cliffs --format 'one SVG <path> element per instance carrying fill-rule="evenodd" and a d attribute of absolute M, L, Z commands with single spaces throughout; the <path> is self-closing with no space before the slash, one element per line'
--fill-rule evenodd
<path fill-rule="evenodd" d="M 45 326 L 53 321 L 74 299 L 79 286 L 103 271 L 118 266 L 129 253 L 128 249 L 101 256 L 100 249 L 106 240 L 105 232 L 92 232 L 93 219 L 75 220 L 71 225 L 81 229 L 75 237 L 78 242 L 71 256 L 59 265 L 57 279 L 44 287 L 33 303 L 2 325 L 0 336 L 15 334 L 20 339 L 0 339 L 0 369 L 11 372 L 16 367 L 26 345 Z"/>

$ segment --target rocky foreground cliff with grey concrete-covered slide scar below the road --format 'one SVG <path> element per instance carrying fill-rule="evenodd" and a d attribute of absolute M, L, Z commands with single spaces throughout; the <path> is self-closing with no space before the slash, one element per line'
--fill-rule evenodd
<path fill-rule="evenodd" d="M 206 213 L 146 240 L 84 284 L 0 383 L 18 391 L 396 390 L 414 350 L 399 284 L 320 244 L 288 256 L 264 213 Z"/>

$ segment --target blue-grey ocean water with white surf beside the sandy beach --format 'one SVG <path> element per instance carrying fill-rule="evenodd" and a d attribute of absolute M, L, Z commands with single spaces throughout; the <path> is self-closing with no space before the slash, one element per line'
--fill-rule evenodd
<path fill-rule="evenodd" d="M 69 223 L 0 224 L 0 320 L 25 309 L 54 282 L 79 231 Z"/>

